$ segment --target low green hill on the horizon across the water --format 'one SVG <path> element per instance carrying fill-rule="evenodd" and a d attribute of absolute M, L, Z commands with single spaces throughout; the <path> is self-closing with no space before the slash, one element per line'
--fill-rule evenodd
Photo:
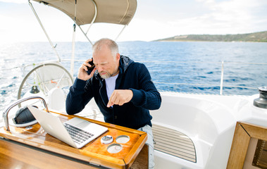
<path fill-rule="evenodd" d="M 267 42 L 267 31 L 237 35 L 178 35 L 156 41 Z"/>

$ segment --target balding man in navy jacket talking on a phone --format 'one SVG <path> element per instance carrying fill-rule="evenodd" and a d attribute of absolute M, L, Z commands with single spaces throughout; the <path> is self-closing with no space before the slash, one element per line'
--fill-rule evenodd
<path fill-rule="evenodd" d="M 146 66 L 126 56 L 120 56 L 118 45 L 111 39 L 100 39 L 92 46 L 95 68 L 90 75 L 88 59 L 79 73 L 66 100 L 66 111 L 75 114 L 82 111 L 94 97 L 106 123 L 147 132 L 149 144 L 149 168 L 154 167 L 154 145 L 149 110 L 161 106 L 157 91 Z"/>

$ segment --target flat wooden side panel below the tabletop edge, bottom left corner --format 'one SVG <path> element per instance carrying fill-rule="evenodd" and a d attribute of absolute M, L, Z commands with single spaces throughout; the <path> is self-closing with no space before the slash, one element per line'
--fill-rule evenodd
<path fill-rule="evenodd" d="M 15 142 L 8 142 L 4 139 L 0 139 L 0 145 L 0 168 L 95 168 L 89 163 L 71 161 L 44 151 L 36 151 Z"/>

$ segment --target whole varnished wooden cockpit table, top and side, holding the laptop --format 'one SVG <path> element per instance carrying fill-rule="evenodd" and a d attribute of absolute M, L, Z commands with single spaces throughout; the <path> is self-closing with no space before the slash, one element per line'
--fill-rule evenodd
<path fill-rule="evenodd" d="M 55 113 L 55 112 L 54 112 Z M 56 113 L 62 122 L 76 115 Z M 82 117 L 79 117 L 82 118 Z M 148 168 L 147 133 L 127 127 L 82 118 L 108 127 L 108 131 L 89 142 L 82 149 L 75 149 L 44 132 L 39 123 L 32 128 L 0 128 L 0 168 Z M 130 141 L 121 144 L 123 149 L 108 153 L 111 144 L 101 144 L 101 137 L 128 135 Z"/>

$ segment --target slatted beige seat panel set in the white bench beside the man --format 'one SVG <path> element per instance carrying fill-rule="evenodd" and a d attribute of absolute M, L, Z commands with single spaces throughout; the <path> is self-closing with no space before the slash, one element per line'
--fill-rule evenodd
<path fill-rule="evenodd" d="M 172 156 L 185 159 L 187 161 L 197 162 L 194 143 L 187 135 L 177 130 L 173 130 L 161 125 L 153 124 L 152 127 L 154 141 L 154 149 Z"/>

